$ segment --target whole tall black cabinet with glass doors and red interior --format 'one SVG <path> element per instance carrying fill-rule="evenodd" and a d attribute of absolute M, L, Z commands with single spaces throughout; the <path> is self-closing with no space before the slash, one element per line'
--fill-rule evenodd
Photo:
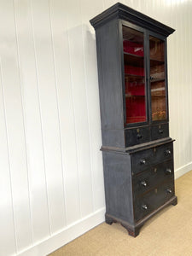
<path fill-rule="evenodd" d="M 131 236 L 176 205 L 169 137 L 166 38 L 171 27 L 121 3 L 90 20 L 102 118 L 106 222 Z"/>

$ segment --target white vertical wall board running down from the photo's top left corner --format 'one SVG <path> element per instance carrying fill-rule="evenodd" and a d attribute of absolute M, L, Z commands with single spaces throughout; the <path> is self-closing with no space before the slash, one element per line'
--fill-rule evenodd
<path fill-rule="evenodd" d="M 17 250 L 21 250 L 32 245 L 26 142 L 20 96 L 14 6 L 12 1 L 1 1 L 0 4 L 0 54 L 2 58 L 5 119 L 8 131 L 9 178 L 12 186 L 16 247 Z M 3 168 L 3 166 L 1 167 Z"/>

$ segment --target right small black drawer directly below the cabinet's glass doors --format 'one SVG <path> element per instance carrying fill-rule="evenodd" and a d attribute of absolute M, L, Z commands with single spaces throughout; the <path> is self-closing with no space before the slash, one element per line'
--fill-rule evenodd
<path fill-rule="evenodd" d="M 163 137 L 169 137 L 169 125 L 153 125 L 151 127 L 151 139 L 152 141 L 158 140 Z"/>

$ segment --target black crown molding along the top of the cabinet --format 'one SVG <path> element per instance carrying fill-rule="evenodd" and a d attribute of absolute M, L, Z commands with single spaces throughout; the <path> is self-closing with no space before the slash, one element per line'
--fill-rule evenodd
<path fill-rule="evenodd" d="M 153 32 L 158 32 L 165 37 L 168 37 L 175 31 L 172 27 L 166 26 L 147 15 L 143 15 L 122 3 L 115 3 L 112 7 L 103 11 L 102 14 L 96 15 L 95 18 L 90 20 L 90 24 L 97 29 L 109 20 L 113 19 L 134 22 L 134 24 L 137 24 L 138 26 L 142 26 L 143 28 L 147 28 Z"/>

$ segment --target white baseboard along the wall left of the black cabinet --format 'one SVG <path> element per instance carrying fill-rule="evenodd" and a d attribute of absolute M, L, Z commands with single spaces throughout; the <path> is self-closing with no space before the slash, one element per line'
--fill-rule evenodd
<path fill-rule="evenodd" d="M 17 256 L 44 256 L 54 252 L 59 247 L 64 246 L 67 242 L 72 241 L 78 236 L 101 224 L 105 220 L 105 207 L 80 219 L 79 221 L 68 225 L 64 230 L 46 238 L 38 244 L 28 247 L 25 251 L 17 253 Z"/>

